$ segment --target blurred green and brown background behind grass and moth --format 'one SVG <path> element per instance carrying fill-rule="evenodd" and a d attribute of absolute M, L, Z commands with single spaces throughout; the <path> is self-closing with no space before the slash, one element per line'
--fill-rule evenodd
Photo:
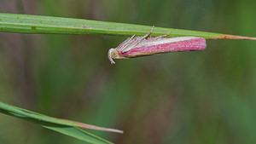
<path fill-rule="evenodd" d="M 1 0 L 1 13 L 41 14 L 254 36 L 250 0 Z M 202 52 L 115 60 L 126 37 L 0 32 L 0 101 L 114 143 L 256 143 L 256 42 L 207 40 Z M 81 144 L 0 114 L 2 144 Z"/>

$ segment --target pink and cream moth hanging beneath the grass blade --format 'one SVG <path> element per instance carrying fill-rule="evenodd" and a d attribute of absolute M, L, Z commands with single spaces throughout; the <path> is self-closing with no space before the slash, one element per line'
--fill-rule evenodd
<path fill-rule="evenodd" d="M 113 59 L 128 59 L 139 56 L 155 55 L 177 51 L 204 50 L 207 47 L 206 39 L 203 37 L 171 37 L 171 33 L 159 37 L 148 37 L 154 30 L 143 37 L 128 37 L 123 43 L 120 43 L 115 49 L 108 50 L 108 59 L 111 64 Z"/>

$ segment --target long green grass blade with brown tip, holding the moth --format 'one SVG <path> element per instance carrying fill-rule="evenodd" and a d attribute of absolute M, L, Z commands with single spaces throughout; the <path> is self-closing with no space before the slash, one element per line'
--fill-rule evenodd
<path fill-rule="evenodd" d="M 106 34 L 122 36 L 143 36 L 152 26 L 115 23 L 98 20 L 84 20 L 54 16 L 29 14 L 0 13 L 0 32 L 22 33 L 58 33 L 58 34 Z M 248 39 L 256 37 L 241 37 L 212 32 L 197 32 L 172 28 L 155 27 L 151 36 L 171 34 L 168 37 L 194 36 L 206 39 Z"/>

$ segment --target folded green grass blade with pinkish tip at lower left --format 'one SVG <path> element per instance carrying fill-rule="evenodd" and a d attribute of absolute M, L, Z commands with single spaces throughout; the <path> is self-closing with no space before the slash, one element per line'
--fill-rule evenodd
<path fill-rule="evenodd" d="M 58 131 L 62 134 L 73 136 L 79 140 L 88 141 L 90 143 L 111 143 L 109 141 L 103 140 L 102 138 L 92 135 L 84 130 L 79 128 L 86 128 L 91 130 L 105 130 L 123 133 L 121 130 L 113 130 L 108 128 L 97 127 L 89 124 L 82 124 L 79 122 L 61 119 L 61 118 L 52 118 L 37 112 L 28 111 L 20 107 L 14 107 L 3 102 L 0 102 L 0 112 L 8 114 L 10 116 L 15 116 L 17 118 L 23 118 L 28 121 L 32 121 L 36 124 L 40 124 L 47 129 Z"/>

